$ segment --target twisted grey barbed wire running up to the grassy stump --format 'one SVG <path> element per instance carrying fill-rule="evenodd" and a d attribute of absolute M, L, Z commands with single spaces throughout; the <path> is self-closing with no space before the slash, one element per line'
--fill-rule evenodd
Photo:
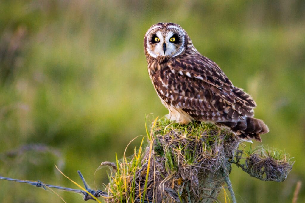
<path fill-rule="evenodd" d="M 36 186 L 36 187 L 43 187 L 45 190 L 47 189 L 46 187 L 50 187 L 50 188 L 55 188 L 55 189 L 58 189 L 58 190 L 81 193 L 81 194 L 84 195 L 84 201 L 87 201 L 87 200 L 90 200 L 90 199 L 95 200 L 91 195 L 93 195 L 95 198 L 99 198 L 99 197 L 108 198 L 109 197 L 107 192 L 104 192 L 104 191 L 101 191 L 101 190 L 90 189 L 88 187 L 83 175 L 81 174 L 81 172 L 78 170 L 77 173 L 78 173 L 79 177 L 81 178 L 81 180 L 83 181 L 83 184 L 84 184 L 85 189 L 87 191 L 72 189 L 72 188 L 69 188 L 69 187 L 61 187 L 61 186 L 57 186 L 57 185 L 44 184 L 39 180 L 38 181 L 20 180 L 20 179 L 13 179 L 13 178 L 2 177 L 2 176 L 0 176 L 0 180 L 14 181 L 14 182 L 17 182 L 17 183 L 26 183 L 26 184 L 30 184 L 30 185 L 33 185 L 33 186 Z M 141 199 L 137 198 L 136 201 L 140 202 Z M 142 200 L 142 202 L 143 202 L 143 200 Z M 147 201 L 144 200 L 144 203 L 150 203 L 150 202 L 152 202 L 152 200 L 147 200 Z"/>

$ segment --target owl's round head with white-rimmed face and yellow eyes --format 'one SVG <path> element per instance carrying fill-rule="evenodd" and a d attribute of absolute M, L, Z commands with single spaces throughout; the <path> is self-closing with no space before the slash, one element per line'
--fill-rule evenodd
<path fill-rule="evenodd" d="M 144 37 L 146 56 L 173 58 L 187 47 L 188 35 L 174 23 L 158 23 L 149 28 Z"/>

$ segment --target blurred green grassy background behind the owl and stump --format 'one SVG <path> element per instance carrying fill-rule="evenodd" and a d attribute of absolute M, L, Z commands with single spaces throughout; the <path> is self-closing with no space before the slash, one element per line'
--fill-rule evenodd
<path fill-rule="evenodd" d="M 302 0 L 0 1 L 0 176 L 76 188 L 56 164 L 102 189 L 108 178 L 106 169 L 95 172 L 100 163 L 145 135 L 145 115 L 167 114 L 147 73 L 143 38 L 151 25 L 173 22 L 253 96 L 255 116 L 270 128 L 262 144 L 296 161 L 282 183 L 233 167 L 237 201 L 291 202 L 302 181 L 305 202 L 304 11 Z M 63 202 L 30 185 L 0 180 L 0 188 L 3 203 Z"/>

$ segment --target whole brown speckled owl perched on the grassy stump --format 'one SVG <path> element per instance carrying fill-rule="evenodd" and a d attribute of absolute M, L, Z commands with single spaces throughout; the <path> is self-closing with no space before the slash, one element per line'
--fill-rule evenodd
<path fill-rule="evenodd" d="M 151 26 L 144 37 L 144 51 L 149 77 L 171 121 L 210 122 L 247 142 L 261 142 L 260 135 L 269 132 L 262 120 L 253 118 L 252 97 L 201 55 L 178 24 Z"/>

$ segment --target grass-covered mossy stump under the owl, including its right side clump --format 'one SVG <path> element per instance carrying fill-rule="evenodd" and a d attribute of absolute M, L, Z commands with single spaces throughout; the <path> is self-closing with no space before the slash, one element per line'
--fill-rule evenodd
<path fill-rule="evenodd" d="M 214 202 L 226 183 L 234 202 L 234 193 L 228 179 L 232 163 L 253 177 L 256 177 L 257 173 L 260 174 L 257 177 L 259 179 L 270 177 L 264 174 L 266 171 L 253 171 L 253 167 L 247 167 L 249 160 L 254 160 L 254 152 L 258 151 L 243 153 L 238 150 L 239 143 L 240 140 L 231 132 L 221 130 L 213 124 L 178 125 L 169 123 L 164 118 L 155 120 L 151 132 L 148 133 L 148 145 L 145 149 L 142 149 L 141 144 L 131 157 L 124 156 L 123 159 L 117 160 L 116 164 L 101 164 L 113 167 L 109 184 L 106 185 L 109 196 L 105 200 Z M 245 154 L 246 157 L 242 156 Z M 275 171 L 275 179 L 279 178 L 278 182 L 285 180 L 293 163 L 289 162 L 289 159 L 283 160 L 282 156 L 274 160 L 276 157 L 271 157 L 268 153 L 267 155 L 256 156 L 256 161 L 272 159 L 272 163 L 279 163 L 281 158 L 285 167 L 281 167 L 280 172 Z M 257 170 L 257 167 L 255 169 Z M 274 175 L 272 177 L 274 180 Z"/>

